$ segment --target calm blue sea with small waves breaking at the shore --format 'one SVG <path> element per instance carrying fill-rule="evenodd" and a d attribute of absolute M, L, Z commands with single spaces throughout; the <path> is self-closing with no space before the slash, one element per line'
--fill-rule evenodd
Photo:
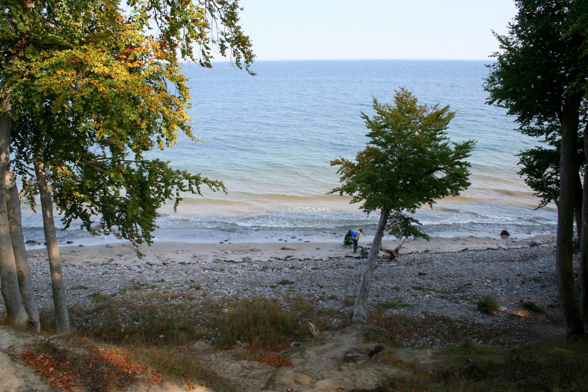
<path fill-rule="evenodd" d="M 512 236 L 554 233 L 556 209 L 536 209 L 539 198 L 517 174 L 517 153 L 539 140 L 517 132 L 505 109 L 487 105 L 483 83 L 490 61 L 328 60 L 258 61 L 255 76 L 229 62 L 212 69 L 185 64 L 192 99 L 189 115 L 198 142 L 153 151 L 177 169 L 221 180 L 228 193 L 202 188 L 160 209 L 156 241 L 321 241 L 363 227 L 375 232 L 379 213 L 367 214 L 349 196 L 328 195 L 339 184 L 330 161 L 355 158 L 365 148 L 362 113 L 373 98 L 392 103 L 406 88 L 419 103 L 456 111 L 447 136 L 473 139 L 472 185 L 415 214 L 431 236 Z M 43 241 L 40 213 L 23 210 L 26 239 Z M 59 226 L 59 222 L 58 222 Z M 116 242 L 72 226 L 61 243 Z"/>

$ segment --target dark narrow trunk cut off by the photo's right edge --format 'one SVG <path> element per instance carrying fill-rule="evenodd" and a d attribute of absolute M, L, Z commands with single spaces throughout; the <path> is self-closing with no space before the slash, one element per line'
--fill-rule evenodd
<path fill-rule="evenodd" d="M 584 154 L 588 159 L 588 125 L 584 127 Z M 582 189 L 582 236 L 580 237 L 580 319 L 588 336 L 588 170 Z"/>

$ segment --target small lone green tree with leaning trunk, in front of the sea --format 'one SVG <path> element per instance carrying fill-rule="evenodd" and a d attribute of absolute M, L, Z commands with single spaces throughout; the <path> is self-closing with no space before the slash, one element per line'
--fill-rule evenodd
<path fill-rule="evenodd" d="M 449 106 L 419 105 L 406 89 L 396 91 L 393 106 L 374 99 L 373 109 L 376 114 L 372 118 L 362 113 L 370 141 L 355 162 L 345 158 L 331 161 L 332 166 L 339 166 L 342 185 L 329 193 L 352 196 L 351 203 L 362 203 L 368 214 L 380 210 L 355 299 L 354 323 L 366 322 L 368 292 L 384 231 L 399 238 L 428 239 L 410 214 L 423 205 L 432 207 L 442 197 L 458 196 L 470 185 L 470 164 L 465 159 L 475 145 L 472 140 L 450 143 L 445 130 L 455 112 Z"/>

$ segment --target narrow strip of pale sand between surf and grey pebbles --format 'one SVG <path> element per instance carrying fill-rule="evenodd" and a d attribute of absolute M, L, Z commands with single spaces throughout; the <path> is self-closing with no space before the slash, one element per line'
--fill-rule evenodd
<path fill-rule="evenodd" d="M 360 239 L 360 246 L 369 247 L 373 236 L 365 236 Z M 554 243 L 554 234 L 536 234 L 525 236 L 453 236 L 453 237 L 431 237 L 429 241 L 425 239 L 408 239 L 403 243 L 400 254 L 412 253 L 453 253 L 464 252 L 466 250 L 491 250 L 491 249 L 520 249 L 528 247 L 530 243 L 537 245 L 550 246 L 548 244 Z M 394 237 L 384 237 L 382 245 L 387 249 L 395 248 L 400 243 Z M 282 247 L 294 247 L 295 249 L 281 249 Z M 112 259 L 114 253 L 119 254 L 121 250 L 124 252 L 126 258 L 135 258 L 133 262 L 142 263 L 150 261 L 153 256 L 165 252 L 176 252 L 181 255 L 183 252 L 198 252 L 199 257 L 204 254 L 218 255 L 232 254 L 237 252 L 255 253 L 255 257 L 260 259 L 269 259 L 270 257 L 280 254 L 288 253 L 290 257 L 311 257 L 312 259 L 322 259 L 324 257 L 332 256 L 352 256 L 361 257 L 359 251 L 353 254 L 352 250 L 344 246 L 342 242 L 335 241 L 330 238 L 308 240 L 293 236 L 289 240 L 221 240 L 219 242 L 203 241 L 203 242 L 186 242 L 183 240 L 156 240 L 151 246 L 147 244 L 140 244 L 138 249 L 145 254 L 143 259 L 136 257 L 136 253 L 130 242 L 126 240 L 108 241 L 102 243 L 90 243 L 85 245 L 83 243 L 60 244 L 59 249 L 62 253 L 62 261 L 64 263 L 71 263 L 75 265 L 89 264 L 92 262 L 100 263 Z M 252 251 L 251 249 L 257 249 Z M 42 257 L 45 256 L 45 247 L 39 246 L 27 249 L 29 256 Z M 384 256 L 385 253 L 380 252 L 379 256 Z M 102 259 L 102 260 L 101 260 Z M 111 260 L 113 261 L 113 260 Z"/>

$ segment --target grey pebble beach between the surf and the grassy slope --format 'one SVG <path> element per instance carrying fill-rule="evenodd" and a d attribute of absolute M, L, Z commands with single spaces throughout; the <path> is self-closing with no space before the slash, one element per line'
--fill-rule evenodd
<path fill-rule="evenodd" d="M 393 240 L 383 243 L 387 248 L 396 244 Z M 366 262 L 359 252 L 353 254 L 343 244 L 296 238 L 263 243 L 155 242 L 140 250 L 142 258 L 129 243 L 62 246 L 69 306 L 89 305 L 92 293 L 111 295 L 139 285 L 176 297 L 171 300 L 183 300 L 172 294 L 197 286 L 212 298 L 279 299 L 296 293 L 316 306 L 340 309 L 343 299 L 355 295 Z M 46 252 L 35 249 L 28 254 L 39 306 L 51 309 Z M 490 329 L 521 330 L 520 336 L 515 333 L 502 342 L 509 346 L 563 337 L 554 257 L 552 234 L 524 239 L 411 239 L 403 244 L 397 259 L 379 259 L 369 306 L 395 301 L 403 305 L 387 311 L 423 319 L 435 314 Z M 499 300 L 495 314 L 477 310 L 476 301 L 482 296 Z M 533 303 L 540 312 L 524 309 L 524 301 Z M 534 329 L 536 333 L 530 336 L 529 330 Z M 443 345 L 442 341 L 426 343 Z"/>

